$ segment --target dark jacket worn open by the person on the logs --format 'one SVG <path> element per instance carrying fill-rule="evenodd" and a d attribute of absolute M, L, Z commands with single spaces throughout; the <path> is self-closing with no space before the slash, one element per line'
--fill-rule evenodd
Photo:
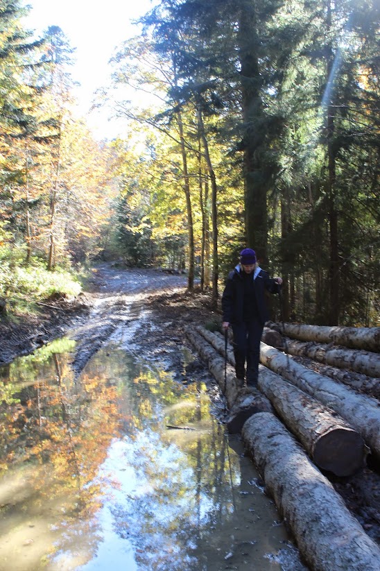
<path fill-rule="evenodd" d="M 223 321 L 228 321 L 228 323 L 232 324 L 244 321 L 242 272 L 243 269 L 238 265 L 228 274 L 222 296 Z M 268 321 L 265 292 L 278 293 L 280 286 L 273 278 L 269 277 L 268 272 L 261 270 L 259 267 L 252 274 L 252 280 L 254 280 L 254 295 L 256 297 L 259 319 L 264 326 L 264 323 Z"/>

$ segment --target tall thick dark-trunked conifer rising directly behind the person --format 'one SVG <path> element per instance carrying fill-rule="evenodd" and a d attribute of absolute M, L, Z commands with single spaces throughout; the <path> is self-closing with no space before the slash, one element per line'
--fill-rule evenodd
<path fill-rule="evenodd" d="M 230 104 L 231 110 L 236 103 L 240 105 L 234 148 L 244 155 L 246 241 L 257 249 L 259 259 L 267 262 L 267 194 L 277 172 L 271 147 L 282 129 L 264 101 L 273 88 L 268 23 L 281 3 L 163 0 L 161 6 L 169 7 L 171 26 L 187 32 L 187 49 L 182 49 L 179 64 L 184 84 L 196 89 L 202 78 L 203 85 L 208 83 L 207 88 L 218 91 L 219 99 L 225 96 L 225 105 Z M 209 47 L 199 37 L 208 37 Z"/>

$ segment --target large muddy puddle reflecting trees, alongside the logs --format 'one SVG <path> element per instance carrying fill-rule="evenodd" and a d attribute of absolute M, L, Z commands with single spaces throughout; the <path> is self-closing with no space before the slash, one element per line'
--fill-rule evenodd
<path fill-rule="evenodd" d="M 202 382 L 73 346 L 0 369 L 1 571 L 301 569 Z"/>

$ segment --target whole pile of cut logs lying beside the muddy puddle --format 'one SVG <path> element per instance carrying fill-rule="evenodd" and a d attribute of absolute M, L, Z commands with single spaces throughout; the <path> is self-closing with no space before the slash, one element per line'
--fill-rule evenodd
<path fill-rule="evenodd" d="M 311 335 L 311 326 L 304 327 L 306 334 Z M 189 339 L 209 363 L 211 373 L 227 396 L 228 429 L 230 432 L 242 429 L 248 452 L 309 567 L 323 571 L 380 571 L 379 545 L 365 534 L 320 472 L 325 470 L 345 477 L 365 465 L 368 452 L 380 459 L 380 402 L 374 398 L 379 395 L 380 380 L 375 375 L 380 373 L 380 360 L 377 353 L 365 350 L 366 343 L 372 350 L 379 349 L 380 328 L 354 330 L 349 341 L 347 330 L 352 328 L 320 329 L 323 331 L 319 332 L 318 343 L 307 339 L 302 350 L 297 346 L 300 341 L 284 341 L 270 330 L 264 331 L 263 339 L 269 339 L 279 348 L 291 346 L 293 352 L 298 351 L 297 355 L 302 353 L 302 359 L 261 343 L 259 390 L 236 384 L 230 343 L 225 368 L 222 334 L 197 327 L 196 332 L 189 332 Z M 285 331 L 290 334 L 289 329 Z M 345 340 L 352 350 L 348 354 L 344 348 L 338 348 L 340 353 L 331 352 L 337 349 L 331 344 L 337 340 L 340 344 Z M 211 359 L 206 353 L 212 355 Z M 303 359 L 309 368 L 297 362 Z M 323 375 L 311 370 L 316 361 Z M 320 365 L 321 361 L 326 364 Z M 334 374 L 334 370 L 341 374 Z M 334 379 L 329 375 L 334 375 Z M 358 387 L 361 392 L 354 390 Z"/>

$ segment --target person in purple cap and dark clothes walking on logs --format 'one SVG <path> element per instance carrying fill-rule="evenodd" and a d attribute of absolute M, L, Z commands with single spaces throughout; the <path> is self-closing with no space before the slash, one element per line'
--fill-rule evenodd
<path fill-rule="evenodd" d="M 279 293 L 282 278 L 270 278 L 257 264 L 256 253 L 245 248 L 240 264 L 228 274 L 222 296 L 223 328 L 231 325 L 234 334 L 236 378 L 244 382 L 245 361 L 247 385 L 257 386 L 260 340 L 268 321 L 265 291 Z"/>

